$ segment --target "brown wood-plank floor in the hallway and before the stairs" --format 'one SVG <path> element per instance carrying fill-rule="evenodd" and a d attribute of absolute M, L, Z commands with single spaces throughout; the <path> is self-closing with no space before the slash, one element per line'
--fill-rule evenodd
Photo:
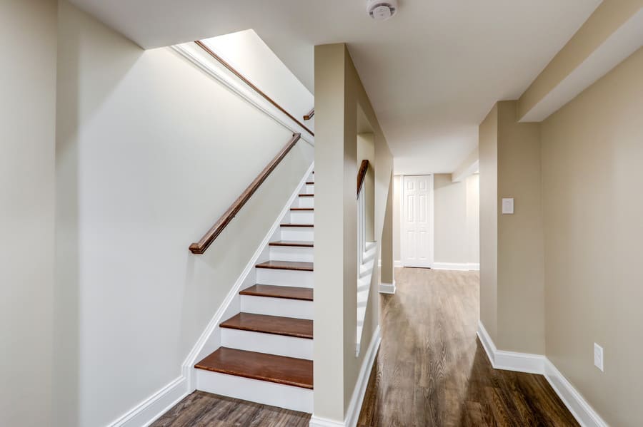
<path fill-rule="evenodd" d="M 476 338 L 478 274 L 396 269 L 359 427 L 578 426 L 542 376 L 494 370 Z M 196 391 L 152 427 L 308 426 L 306 413 Z"/>

